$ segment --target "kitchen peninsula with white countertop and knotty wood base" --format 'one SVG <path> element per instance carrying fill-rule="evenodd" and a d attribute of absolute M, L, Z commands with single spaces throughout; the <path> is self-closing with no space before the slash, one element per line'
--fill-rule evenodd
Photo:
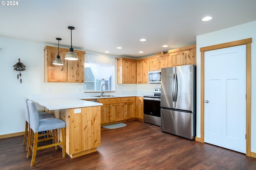
<path fill-rule="evenodd" d="M 66 122 L 66 153 L 71 158 L 97 151 L 100 146 L 100 107 L 102 103 L 76 98 L 32 99 L 44 110 Z M 61 131 L 58 132 L 61 136 Z M 61 140 L 59 138 L 59 140 Z"/>

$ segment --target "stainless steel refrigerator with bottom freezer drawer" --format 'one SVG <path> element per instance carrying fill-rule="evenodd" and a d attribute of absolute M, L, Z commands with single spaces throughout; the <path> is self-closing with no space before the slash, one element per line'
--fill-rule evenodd
<path fill-rule="evenodd" d="M 195 137 L 196 67 L 161 69 L 161 130 L 190 140 Z"/>

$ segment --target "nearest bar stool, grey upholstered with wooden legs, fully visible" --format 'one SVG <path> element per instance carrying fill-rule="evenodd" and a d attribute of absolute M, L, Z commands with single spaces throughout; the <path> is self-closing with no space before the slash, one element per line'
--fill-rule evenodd
<path fill-rule="evenodd" d="M 58 149 L 58 146 L 62 146 L 62 157 L 66 156 L 65 150 L 65 127 L 66 123 L 57 118 L 47 118 L 39 120 L 39 114 L 37 112 L 36 103 L 29 100 L 28 101 L 28 111 L 29 111 L 29 118 L 30 118 L 30 138 L 29 138 L 29 148 L 27 158 L 30 156 L 30 151 L 32 151 L 32 160 L 30 166 L 34 166 L 35 159 L 36 159 L 36 152 L 40 149 L 50 148 L 55 146 L 55 149 Z M 62 141 L 58 142 L 58 135 L 56 132 L 57 129 L 61 128 L 62 134 Z M 39 135 L 38 132 L 52 130 L 52 132 L 47 132 L 46 134 L 52 134 L 53 136 L 43 139 L 38 139 Z M 33 143 L 33 134 L 34 134 L 34 145 Z M 44 134 L 45 135 L 45 134 Z M 38 147 L 38 142 L 42 142 L 45 140 L 54 140 L 53 144 L 46 144 L 44 146 Z"/>

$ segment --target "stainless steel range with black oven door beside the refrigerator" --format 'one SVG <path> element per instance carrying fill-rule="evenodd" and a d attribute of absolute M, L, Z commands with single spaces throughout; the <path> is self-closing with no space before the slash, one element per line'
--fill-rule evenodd
<path fill-rule="evenodd" d="M 144 112 L 145 123 L 161 126 L 160 101 L 161 101 L 160 88 L 154 89 L 154 95 L 143 96 L 143 105 L 144 105 L 143 112 Z"/>

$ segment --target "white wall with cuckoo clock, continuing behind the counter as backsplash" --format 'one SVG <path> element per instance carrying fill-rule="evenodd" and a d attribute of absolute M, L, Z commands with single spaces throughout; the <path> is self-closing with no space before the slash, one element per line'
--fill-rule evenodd
<path fill-rule="evenodd" d="M 48 44 L 0 37 L 0 135 L 24 131 L 24 97 L 30 99 L 35 94 L 62 93 L 92 95 L 92 93 L 83 93 L 84 83 L 44 83 L 45 45 Z M 26 70 L 21 72 L 22 84 L 18 81 L 18 72 L 14 71 L 13 67 L 18 62 L 18 58 L 26 66 Z M 137 86 L 140 88 L 137 89 Z M 115 88 L 116 93 L 131 95 L 136 94 L 138 90 L 138 94 L 152 95 L 154 87 L 158 86 L 160 84 L 116 84 Z M 51 89 L 50 92 L 47 92 L 48 87 Z"/>

